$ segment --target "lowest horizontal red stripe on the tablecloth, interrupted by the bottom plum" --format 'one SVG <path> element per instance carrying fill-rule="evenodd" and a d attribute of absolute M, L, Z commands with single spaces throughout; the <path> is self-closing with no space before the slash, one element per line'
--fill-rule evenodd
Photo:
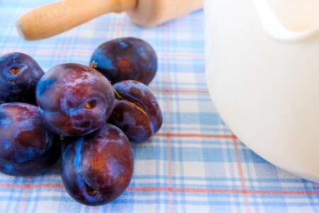
<path fill-rule="evenodd" d="M 13 189 L 58 188 L 64 186 L 59 183 L 11 184 L 0 183 L 0 187 Z M 212 194 L 250 194 L 250 195 L 319 195 L 317 191 L 306 190 L 236 190 L 236 189 L 204 189 L 191 187 L 128 187 L 128 192 L 189 192 Z"/>

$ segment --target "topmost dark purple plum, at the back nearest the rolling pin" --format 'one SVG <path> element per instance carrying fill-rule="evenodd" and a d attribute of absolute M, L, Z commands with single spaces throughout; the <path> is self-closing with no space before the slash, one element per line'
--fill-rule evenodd
<path fill-rule="evenodd" d="M 147 85 L 155 77 L 157 55 L 144 40 L 117 38 L 94 50 L 90 66 L 105 75 L 111 84 L 122 80 L 138 80 Z"/>

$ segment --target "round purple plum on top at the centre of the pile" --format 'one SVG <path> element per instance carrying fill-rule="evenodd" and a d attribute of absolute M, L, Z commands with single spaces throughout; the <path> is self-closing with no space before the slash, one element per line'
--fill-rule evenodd
<path fill-rule="evenodd" d="M 47 71 L 38 82 L 36 98 L 45 126 L 61 136 L 82 136 L 99 129 L 114 105 L 106 77 L 74 63 Z"/>

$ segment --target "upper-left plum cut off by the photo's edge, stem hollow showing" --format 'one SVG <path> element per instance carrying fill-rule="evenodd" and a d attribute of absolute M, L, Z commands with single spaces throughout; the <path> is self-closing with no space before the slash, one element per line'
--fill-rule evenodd
<path fill-rule="evenodd" d="M 0 67 L 0 104 L 36 104 L 35 87 L 44 75 L 38 63 L 23 53 L 7 53 L 0 57 Z"/>

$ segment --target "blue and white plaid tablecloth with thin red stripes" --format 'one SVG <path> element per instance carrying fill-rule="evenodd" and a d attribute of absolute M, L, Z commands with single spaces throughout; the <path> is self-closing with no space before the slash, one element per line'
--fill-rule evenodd
<path fill-rule="evenodd" d="M 26 53 L 46 71 L 63 62 L 88 65 L 106 40 L 142 38 L 158 55 L 150 87 L 164 123 L 149 141 L 132 144 L 133 180 L 111 204 L 87 207 L 72 200 L 57 164 L 32 177 L 0 175 L 0 212 L 319 212 L 317 184 L 259 158 L 218 116 L 204 75 L 203 11 L 150 29 L 124 13 L 108 14 L 54 38 L 22 40 L 16 18 L 47 2 L 0 0 L 0 53 Z"/>

